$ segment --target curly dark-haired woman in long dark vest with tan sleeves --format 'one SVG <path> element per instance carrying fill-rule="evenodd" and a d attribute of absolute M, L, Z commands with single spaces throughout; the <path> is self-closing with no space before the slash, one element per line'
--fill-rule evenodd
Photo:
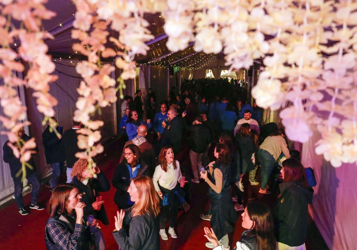
<path fill-rule="evenodd" d="M 234 225 L 238 219 L 233 206 L 229 189 L 231 155 L 228 147 L 218 143 L 215 147 L 214 156 L 216 161 L 208 164 L 211 177 L 201 172 L 201 177 L 210 186 L 208 194 L 211 198 L 211 228 L 215 231 L 218 239 L 225 249 L 229 249 L 228 233 L 234 231 Z M 211 242 L 206 243 L 207 248 L 214 248 Z"/>

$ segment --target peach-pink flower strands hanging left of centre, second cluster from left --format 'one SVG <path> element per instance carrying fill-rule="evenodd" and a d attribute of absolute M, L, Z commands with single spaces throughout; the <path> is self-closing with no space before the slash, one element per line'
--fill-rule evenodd
<path fill-rule="evenodd" d="M 149 23 L 143 18 L 144 12 L 161 11 L 164 1 L 114 1 L 114 0 L 73 0 L 77 12 L 73 22 L 72 38 L 80 43 L 73 45 L 75 51 L 88 57 L 79 62 L 76 71 L 84 81 L 77 89 L 80 94 L 76 102 L 73 120 L 85 127 L 79 129 L 78 146 L 84 152 L 76 154 L 87 159 L 89 168 L 95 165 L 93 157 L 103 151 L 98 142 L 101 139 L 99 127 L 103 121 L 93 121 L 91 115 L 117 101 L 116 92 L 125 88 L 124 80 L 136 76 L 136 54 L 146 55 L 149 47 L 145 44 L 154 38 L 147 30 Z M 112 36 L 108 29 L 119 32 Z M 186 45 L 187 46 L 187 45 Z M 102 58 L 115 58 L 115 66 L 122 70 L 117 81 L 110 76 L 115 66 L 105 63 Z"/>

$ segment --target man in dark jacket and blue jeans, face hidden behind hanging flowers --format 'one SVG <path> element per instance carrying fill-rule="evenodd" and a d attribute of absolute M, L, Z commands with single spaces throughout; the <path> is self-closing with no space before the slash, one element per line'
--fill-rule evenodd
<path fill-rule="evenodd" d="M 57 122 L 55 117 L 51 117 Z M 61 150 L 61 139 L 63 128 L 57 126 L 56 129 L 60 133 L 56 135 L 54 131 L 50 131 L 50 123 L 47 123 L 45 131 L 42 133 L 42 142 L 45 148 L 46 163 L 51 164 L 52 176 L 50 179 L 50 191 L 53 191 L 58 184 L 59 176 L 61 175 L 61 167 L 63 166 L 63 155 Z"/>

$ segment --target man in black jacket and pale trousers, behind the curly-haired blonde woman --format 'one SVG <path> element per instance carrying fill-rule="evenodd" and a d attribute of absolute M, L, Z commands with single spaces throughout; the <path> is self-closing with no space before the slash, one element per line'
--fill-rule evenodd
<path fill-rule="evenodd" d="M 75 156 L 76 152 L 80 152 L 82 150 L 79 149 L 77 142 L 77 136 L 78 134 L 76 133 L 77 129 L 81 128 L 81 122 L 74 122 L 73 126 L 71 129 L 66 130 L 63 133 L 62 136 L 62 141 L 61 141 L 61 148 L 62 152 L 65 154 L 65 159 L 67 161 L 67 183 L 70 183 L 72 181 L 71 177 L 71 172 L 72 172 L 72 167 L 74 163 L 78 160 L 78 158 Z"/>

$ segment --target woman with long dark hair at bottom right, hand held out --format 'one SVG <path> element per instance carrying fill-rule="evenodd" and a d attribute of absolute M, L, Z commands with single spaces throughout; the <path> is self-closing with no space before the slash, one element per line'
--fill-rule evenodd
<path fill-rule="evenodd" d="M 242 213 L 241 239 L 237 241 L 236 250 L 275 250 L 276 242 L 273 233 L 273 216 L 268 206 L 253 201 L 248 203 Z M 213 244 L 214 250 L 225 250 L 219 244 L 213 229 L 204 228 L 205 237 Z"/>

